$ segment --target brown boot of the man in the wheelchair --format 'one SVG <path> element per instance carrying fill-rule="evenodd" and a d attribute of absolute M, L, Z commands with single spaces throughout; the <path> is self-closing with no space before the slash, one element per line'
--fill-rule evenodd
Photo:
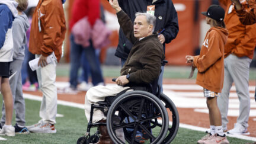
<path fill-rule="evenodd" d="M 100 123 L 105 123 L 106 120 L 100 120 Z M 110 136 L 107 132 L 107 126 L 99 126 L 100 130 L 100 140 L 95 144 L 114 144 L 114 142 L 110 139 Z"/>

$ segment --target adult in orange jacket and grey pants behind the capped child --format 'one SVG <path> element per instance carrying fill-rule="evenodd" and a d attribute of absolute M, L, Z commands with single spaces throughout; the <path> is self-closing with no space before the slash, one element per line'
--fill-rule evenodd
<path fill-rule="evenodd" d="M 233 82 L 239 98 L 239 116 L 229 134 L 249 135 L 247 131 L 250 97 L 249 97 L 249 65 L 254 55 L 256 46 L 256 25 L 244 25 L 239 21 L 235 5 L 230 0 L 219 0 L 226 6 L 225 24 L 228 28 L 228 41 L 225 45 L 225 76 L 221 97 L 217 98 L 217 104 L 222 114 L 223 130 L 228 127 L 229 92 Z M 247 1 L 240 0 L 244 10 L 250 11 Z"/>

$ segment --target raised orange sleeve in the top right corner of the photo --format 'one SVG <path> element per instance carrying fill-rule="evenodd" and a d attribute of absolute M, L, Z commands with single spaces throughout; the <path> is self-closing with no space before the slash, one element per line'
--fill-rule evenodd
<path fill-rule="evenodd" d="M 235 4 L 236 13 L 242 24 L 250 25 L 256 23 L 256 1 L 247 0 L 251 10 L 247 10 L 245 5 L 241 4 L 240 0 L 231 0 Z"/>

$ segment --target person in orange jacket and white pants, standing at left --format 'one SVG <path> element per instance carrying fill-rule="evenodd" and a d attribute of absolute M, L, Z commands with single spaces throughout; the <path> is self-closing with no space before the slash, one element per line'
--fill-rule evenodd
<path fill-rule="evenodd" d="M 34 133 L 56 133 L 57 114 L 56 63 L 62 56 L 66 22 L 62 4 L 65 0 L 40 0 L 34 11 L 30 32 L 29 51 L 39 57 L 37 69 L 39 87 L 43 92 L 39 123 L 27 126 Z M 47 56 L 57 62 L 47 63 Z"/>

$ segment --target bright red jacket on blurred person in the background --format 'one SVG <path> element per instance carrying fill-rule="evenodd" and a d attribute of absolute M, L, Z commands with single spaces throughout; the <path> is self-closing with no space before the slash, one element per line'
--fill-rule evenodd
<path fill-rule="evenodd" d="M 91 26 L 94 25 L 97 18 L 100 18 L 100 0 L 75 0 L 69 30 L 72 30 L 73 25 L 85 16 L 88 16 Z"/>

